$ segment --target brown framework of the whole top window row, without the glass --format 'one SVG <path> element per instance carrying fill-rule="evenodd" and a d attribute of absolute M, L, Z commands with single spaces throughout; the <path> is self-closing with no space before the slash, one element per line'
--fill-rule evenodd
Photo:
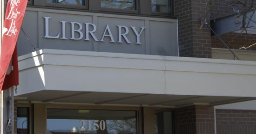
<path fill-rule="evenodd" d="M 85 0 L 84 6 L 76 6 L 69 4 L 47 4 L 47 0 L 31 0 L 28 6 L 40 7 L 58 10 L 72 10 L 80 12 L 97 12 L 97 13 L 109 13 L 109 14 L 121 14 L 121 15 L 135 15 L 145 17 L 156 17 L 156 18 L 175 18 L 174 16 L 174 0 L 169 0 L 170 13 L 164 12 L 152 12 L 151 0 L 136 0 L 136 10 L 129 11 L 124 9 L 114 9 L 101 7 L 101 0 Z"/>

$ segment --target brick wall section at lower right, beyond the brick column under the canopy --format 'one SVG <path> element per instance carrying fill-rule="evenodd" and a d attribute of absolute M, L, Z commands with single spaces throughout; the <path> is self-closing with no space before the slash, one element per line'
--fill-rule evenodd
<path fill-rule="evenodd" d="M 256 134 L 256 110 L 216 110 L 217 134 Z"/>

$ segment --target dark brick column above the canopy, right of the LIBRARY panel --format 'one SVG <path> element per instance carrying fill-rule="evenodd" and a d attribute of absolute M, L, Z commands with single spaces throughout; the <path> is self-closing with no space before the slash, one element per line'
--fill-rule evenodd
<path fill-rule="evenodd" d="M 201 20 L 208 11 L 209 0 L 175 0 L 175 16 L 179 27 L 179 52 L 184 57 L 211 58 L 211 32 Z M 209 16 L 210 17 L 210 16 Z"/>

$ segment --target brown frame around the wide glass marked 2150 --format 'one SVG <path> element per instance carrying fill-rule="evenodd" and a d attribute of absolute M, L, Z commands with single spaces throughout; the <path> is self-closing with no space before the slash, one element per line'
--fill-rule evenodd
<path fill-rule="evenodd" d="M 46 110 L 46 122 L 47 122 L 47 109 L 70 109 L 70 110 L 120 110 L 120 111 L 136 111 L 137 119 L 137 134 L 142 134 L 142 110 L 140 107 L 122 107 L 122 106 L 90 106 L 90 105 L 55 105 L 47 104 Z M 47 127 L 47 124 L 46 124 Z"/>

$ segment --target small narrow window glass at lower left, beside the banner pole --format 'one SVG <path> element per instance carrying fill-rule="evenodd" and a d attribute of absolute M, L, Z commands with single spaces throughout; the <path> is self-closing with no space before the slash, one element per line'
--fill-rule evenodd
<path fill-rule="evenodd" d="M 29 134 L 29 108 L 17 109 L 17 134 Z"/>

